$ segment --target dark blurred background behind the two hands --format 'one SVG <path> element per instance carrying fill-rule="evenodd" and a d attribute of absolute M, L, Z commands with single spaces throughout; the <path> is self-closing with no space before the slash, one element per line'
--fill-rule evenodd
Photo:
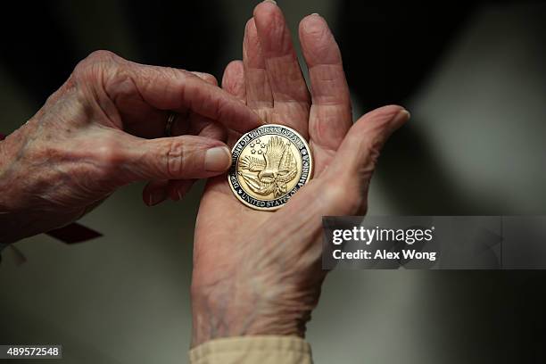
<path fill-rule="evenodd" d="M 546 214 L 546 5 L 523 1 L 279 0 L 293 34 L 334 29 L 355 117 L 401 103 L 370 214 Z M 210 72 L 241 58 L 254 1 L 11 4 L 0 34 L 0 131 L 28 120 L 79 60 Z M 0 265 L 0 343 L 62 343 L 63 362 L 186 362 L 194 217 L 128 186 L 83 219 L 104 237 L 47 236 Z M 542 271 L 335 271 L 309 325 L 318 363 L 546 362 Z M 19 362 L 22 362 L 19 361 Z"/>

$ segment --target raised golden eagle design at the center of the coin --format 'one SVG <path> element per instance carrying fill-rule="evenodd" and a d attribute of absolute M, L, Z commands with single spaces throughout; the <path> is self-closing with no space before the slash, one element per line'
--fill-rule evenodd
<path fill-rule="evenodd" d="M 239 161 L 238 174 L 255 194 L 275 198 L 286 194 L 286 184 L 297 175 L 297 166 L 290 144 L 283 143 L 279 136 L 273 136 L 266 145 L 262 158 L 245 156 Z M 258 174 L 244 172 L 258 172 Z"/>

